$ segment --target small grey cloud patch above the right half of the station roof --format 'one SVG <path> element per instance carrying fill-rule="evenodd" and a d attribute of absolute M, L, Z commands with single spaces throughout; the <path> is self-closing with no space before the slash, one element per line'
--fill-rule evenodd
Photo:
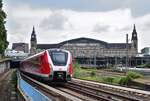
<path fill-rule="evenodd" d="M 107 32 L 109 31 L 110 26 L 109 25 L 100 25 L 100 24 L 96 24 L 93 28 L 94 32 Z"/>

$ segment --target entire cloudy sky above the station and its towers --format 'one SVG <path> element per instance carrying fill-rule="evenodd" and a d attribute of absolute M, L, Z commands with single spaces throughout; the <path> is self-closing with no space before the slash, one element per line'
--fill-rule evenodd
<path fill-rule="evenodd" d="M 150 46 L 150 0 L 3 1 L 10 44 L 29 43 L 33 25 L 38 43 L 79 37 L 125 43 L 136 24 L 139 51 Z"/>

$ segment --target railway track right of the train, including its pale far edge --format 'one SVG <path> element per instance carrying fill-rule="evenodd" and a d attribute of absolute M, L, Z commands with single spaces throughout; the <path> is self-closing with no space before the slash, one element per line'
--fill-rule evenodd
<path fill-rule="evenodd" d="M 73 79 L 68 82 L 66 87 L 70 89 L 91 92 L 97 96 L 103 96 L 111 99 L 111 101 L 149 101 L 150 92 L 125 88 L 120 86 L 113 86 L 101 83 L 95 83 L 84 80 Z"/>

